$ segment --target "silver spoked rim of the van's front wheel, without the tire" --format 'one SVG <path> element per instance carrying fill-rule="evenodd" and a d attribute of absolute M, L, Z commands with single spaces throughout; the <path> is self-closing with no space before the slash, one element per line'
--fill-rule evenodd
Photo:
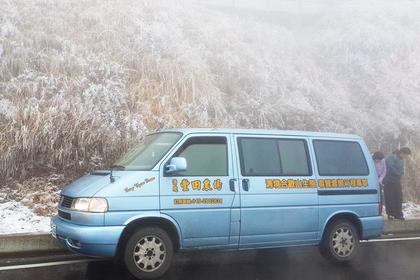
<path fill-rule="evenodd" d="M 157 236 L 145 236 L 134 247 L 134 262 L 142 271 L 152 272 L 164 262 L 165 249 L 165 244 Z"/>

